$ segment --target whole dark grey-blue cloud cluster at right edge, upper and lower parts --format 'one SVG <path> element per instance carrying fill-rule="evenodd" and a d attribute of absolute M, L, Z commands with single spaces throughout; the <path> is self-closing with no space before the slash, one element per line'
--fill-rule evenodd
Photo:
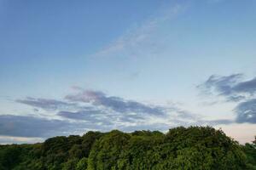
<path fill-rule="evenodd" d="M 256 123 L 256 77 L 246 81 L 243 81 L 242 77 L 242 74 L 226 77 L 212 75 L 197 88 L 204 94 L 222 96 L 226 101 L 238 102 L 234 109 L 234 122 Z"/>

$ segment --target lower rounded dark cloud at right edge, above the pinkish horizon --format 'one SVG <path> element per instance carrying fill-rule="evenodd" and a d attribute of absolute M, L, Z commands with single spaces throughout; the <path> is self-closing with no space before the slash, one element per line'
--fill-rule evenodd
<path fill-rule="evenodd" d="M 241 102 L 236 106 L 236 122 L 256 123 L 256 99 Z"/>

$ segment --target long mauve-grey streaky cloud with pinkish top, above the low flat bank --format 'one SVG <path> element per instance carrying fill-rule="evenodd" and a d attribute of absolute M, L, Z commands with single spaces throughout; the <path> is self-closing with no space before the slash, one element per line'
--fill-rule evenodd
<path fill-rule="evenodd" d="M 35 107 L 34 111 L 36 112 L 38 112 L 37 108 L 56 111 L 53 114 L 61 116 L 64 120 L 86 122 L 93 124 L 94 127 L 96 125 L 134 125 L 147 122 L 151 116 L 168 118 L 172 112 L 177 113 L 173 114 L 173 119 L 176 119 L 177 116 L 177 118 L 195 119 L 188 111 L 173 106 L 147 105 L 116 96 L 107 96 L 100 91 L 84 90 L 79 87 L 73 89 L 78 93 L 69 94 L 63 100 L 26 98 L 19 99 L 17 102 Z M 73 109 L 70 110 L 70 107 Z"/>

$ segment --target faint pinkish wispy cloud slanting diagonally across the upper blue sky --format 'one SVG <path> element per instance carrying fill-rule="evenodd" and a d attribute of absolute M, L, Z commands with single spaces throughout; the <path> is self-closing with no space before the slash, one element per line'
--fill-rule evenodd
<path fill-rule="evenodd" d="M 160 48 L 157 39 L 157 29 L 165 22 L 172 20 L 184 11 L 183 3 L 172 3 L 171 7 L 163 9 L 161 14 L 151 16 L 140 26 L 135 26 L 126 31 L 121 37 L 102 48 L 93 56 L 98 57 L 124 57 L 139 56 L 140 54 L 153 54 Z"/>

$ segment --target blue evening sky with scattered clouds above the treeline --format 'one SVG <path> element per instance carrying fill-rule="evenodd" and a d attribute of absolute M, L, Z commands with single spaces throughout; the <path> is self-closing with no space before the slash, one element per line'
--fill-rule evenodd
<path fill-rule="evenodd" d="M 0 144 L 90 130 L 256 135 L 254 0 L 0 0 Z"/>

